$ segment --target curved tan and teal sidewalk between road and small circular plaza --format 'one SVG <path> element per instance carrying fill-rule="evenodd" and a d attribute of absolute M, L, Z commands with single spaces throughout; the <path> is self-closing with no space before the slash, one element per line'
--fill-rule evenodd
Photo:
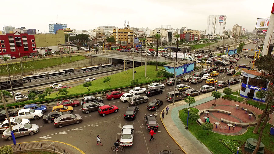
<path fill-rule="evenodd" d="M 230 86 L 232 91 L 238 90 L 238 85 Z M 218 91 L 223 92 L 223 89 L 218 89 Z M 222 93 L 222 96 L 225 95 Z M 191 104 L 190 107 L 214 100 L 211 93 L 205 93 L 203 95 L 195 96 L 196 103 Z M 212 152 L 200 142 L 194 135 L 192 135 L 187 129 L 185 129 L 184 124 L 179 118 L 179 111 L 188 108 L 188 103 L 184 100 L 172 103 L 169 105 L 170 114 L 165 115 L 162 123 L 166 128 L 168 134 L 174 139 L 174 141 L 180 146 L 180 148 L 187 154 L 211 154 Z M 164 107 L 164 110 L 166 107 Z"/>

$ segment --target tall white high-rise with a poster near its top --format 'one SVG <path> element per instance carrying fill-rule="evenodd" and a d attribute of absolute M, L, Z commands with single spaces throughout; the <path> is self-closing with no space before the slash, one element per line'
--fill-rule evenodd
<path fill-rule="evenodd" d="M 226 22 L 226 15 L 208 16 L 206 34 L 225 36 Z"/>

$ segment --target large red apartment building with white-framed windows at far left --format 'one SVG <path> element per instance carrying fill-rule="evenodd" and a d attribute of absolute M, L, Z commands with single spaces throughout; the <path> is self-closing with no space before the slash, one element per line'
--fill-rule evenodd
<path fill-rule="evenodd" d="M 19 51 L 21 57 L 36 53 L 34 35 L 19 32 L 0 35 L 0 57 L 19 58 Z"/>

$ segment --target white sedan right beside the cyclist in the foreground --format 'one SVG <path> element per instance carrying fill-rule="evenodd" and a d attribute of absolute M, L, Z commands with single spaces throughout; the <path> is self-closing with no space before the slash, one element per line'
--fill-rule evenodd
<path fill-rule="evenodd" d="M 133 125 L 125 125 L 122 127 L 120 143 L 121 146 L 132 146 L 133 145 L 133 136 L 134 136 L 134 127 Z"/>

